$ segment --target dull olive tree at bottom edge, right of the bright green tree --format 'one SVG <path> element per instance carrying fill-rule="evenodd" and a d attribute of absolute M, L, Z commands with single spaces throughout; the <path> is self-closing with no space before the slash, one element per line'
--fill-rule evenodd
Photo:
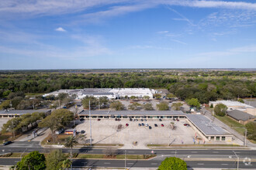
<path fill-rule="evenodd" d="M 46 165 L 47 170 L 60 170 L 64 168 L 69 168 L 71 162 L 67 159 L 67 156 L 62 153 L 61 149 L 56 149 L 50 151 L 50 154 L 47 155 Z"/>

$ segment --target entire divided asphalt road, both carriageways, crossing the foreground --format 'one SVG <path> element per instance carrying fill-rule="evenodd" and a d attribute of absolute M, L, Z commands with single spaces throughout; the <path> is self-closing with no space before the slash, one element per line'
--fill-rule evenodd
<path fill-rule="evenodd" d="M 40 152 L 50 152 L 54 148 L 42 148 L 38 142 L 26 141 L 26 142 L 14 142 L 11 145 L 0 146 L 0 154 L 7 152 L 30 152 L 30 151 L 40 151 Z M 70 151 L 69 148 L 61 148 L 64 153 Z M 82 154 L 103 154 L 104 149 L 91 149 L 91 148 L 74 148 L 74 152 Z M 150 155 L 151 151 L 143 149 L 117 149 L 117 154 L 124 155 Z M 236 168 L 237 167 L 237 158 L 234 155 L 234 151 L 239 156 L 240 168 L 255 168 L 256 162 L 243 162 L 244 158 L 256 159 L 256 151 L 254 150 L 213 150 L 213 149 L 204 149 L 204 150 L 191 150 L 191 149 L 182 149 L 182 150 L 153 150 L 154 154 L 157 155 L 156 158 L 151 159 L 150 161 L 127 161 L 127 167 L 157 167 L 168 156 L 176 156 L 178 158 L 199 158 L 197 161 L 186 161 L 188 167 L 192 168 Z M 230 158 L 230 156 L 232 156 Z M 218 158 L 219 161 L 206 161 L 205 158 Z M 223 158 L 222 161 L 220 159 Z M 210 160 L 208 159 L 208 160 Z M 204 160 L 204 161 L 202 161 Z M 0 165 L 15 165 L 16 162 L 19 162 L 17 158 L 0 158 Z M 247 164 L 247 165 L 246 165 Z M 123 160 L 85 160 L 85 159 L 75 159 L 75 166 L 88 166 L 88 167 L 124 167 Z"/>

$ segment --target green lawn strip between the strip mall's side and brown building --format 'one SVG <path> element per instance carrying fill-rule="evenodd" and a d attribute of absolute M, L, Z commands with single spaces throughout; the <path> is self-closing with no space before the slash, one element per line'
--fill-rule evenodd
<path fill-rule="evenodd" d="M 218 118 L 220 121 L 222 121 L 224 124 L 227 124 L 230 128 L 233 128 L 238 133 L 244 135 L 245 126 L 243 124 L 240 124 L 237 121 L 234 121 L 233 119 L 227 116 L 223 116 L 223 117 L 220 117 L 217 115 L 214 115 L 214 116 Z"/>

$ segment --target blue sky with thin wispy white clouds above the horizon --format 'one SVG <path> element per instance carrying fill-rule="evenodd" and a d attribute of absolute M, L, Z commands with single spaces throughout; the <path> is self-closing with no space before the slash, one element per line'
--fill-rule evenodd
<path fill-rule="evenodd" d="M 256 1 L 0 3 L 0 70 L 255 67 Z"/>

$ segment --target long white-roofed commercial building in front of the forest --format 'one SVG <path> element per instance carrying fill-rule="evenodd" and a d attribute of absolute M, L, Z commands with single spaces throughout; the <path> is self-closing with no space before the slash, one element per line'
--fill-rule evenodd
<path fill-rule="evenodd" d="M 83 97 L 92 96 L 92 97 L 108 97 L 109 99 L 121 99 L 121 98 L 144 98 L 148 97 L 149 99 L 153 98 L 155 90 L 149 88 L 85 88 L 85 89 L 75 89 L 75 90 L 57 90 L 51 93 L 46 93 L 43 97 L 54 95 L 55 97 L 59 93 L 68 93 L 71 95 L 76 95 L 78 100 L 81 100 Z"/>

